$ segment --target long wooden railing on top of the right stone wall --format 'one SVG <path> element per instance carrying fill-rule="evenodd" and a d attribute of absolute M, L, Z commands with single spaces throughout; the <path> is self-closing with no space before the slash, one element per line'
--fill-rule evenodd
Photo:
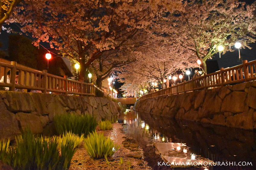
<path fill-rule="evenodd" d="M 164 95 L 178 94 L 182 92 L 189 92 L 193 90 L 211 89 L 219 86 L 256 80 L 255 66 L 256 60 L 249 63 L 247 62 L 247 60 L 244 60 L 243 64 L 241 65 L 237 65 L 228 69 L 220 68 L 220 71 L 211 74 L 204 73 L 203 76 L 200 76 L 198 78 L 192 78 L 192 80 L 180 83 L 178 85 L 174 85 L 166 89 L 141 96 L 139 100 Z"/>

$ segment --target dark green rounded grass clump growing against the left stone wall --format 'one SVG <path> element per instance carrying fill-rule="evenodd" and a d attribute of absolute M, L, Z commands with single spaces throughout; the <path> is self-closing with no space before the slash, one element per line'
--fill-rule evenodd
<path fill-rule="evenodd" d="M 84 137 L 87 137 L 90 132 L 95 131 L 98 123 L 92 115 L 62 114 L 55 115 L 54 124 L 59 135 L 71 131 L 79 136 L 84 134 Z"/>

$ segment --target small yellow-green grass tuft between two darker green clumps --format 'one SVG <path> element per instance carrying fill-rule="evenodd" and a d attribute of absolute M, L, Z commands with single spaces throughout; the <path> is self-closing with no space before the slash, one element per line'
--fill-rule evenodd
<path fill-rule="evenodd" d="M 83 140 L 83 136 L 84 134 L 82 134 L 80 137 L 76 134 L 73 134 L 72 132 L 65 132 L 63 133 L 62 137 L 56 137 L 54 136 L 53 139 L 57 138 L 58 140 L 58 146 L 59 148 L 61 147 L 61 144 L 66 144 L 68 143 L 68 141 L 71 141 L 72 143 L 74 143 L 74 148 L 77 148 L 79 146 L 79 144 L 82 142 Z"/>

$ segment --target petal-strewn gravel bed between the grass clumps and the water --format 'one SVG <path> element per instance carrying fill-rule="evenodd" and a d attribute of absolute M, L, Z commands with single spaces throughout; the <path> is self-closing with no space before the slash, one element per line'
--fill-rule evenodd
<path fill-rule="evenodd" d="M 144 160 L 143 157 L 143 150 L 138 148 L 136 151 L 131 151 L 124 147 L 122 143 L 124 143 L 124 139 L 127 136 L 124 134 L 122 130 L 123 127 L 119 123 L 113 124 L 112 130 L 100 131 L 96 129 L 98 132 L 103 132 L 105 136 L 109 136 L 116 144 L 120 145 L 121 147 L 118 151 L 112 156 L 108 157 L 109 165 L 105 158 L 103 159 L 92 159 L 87 154 L 86 150 L 84 149 L 84 142 L 82 142 L 78 150 L 76 151 L 75 155 L 71 160 L 70 170 L 78 170 L 78 169 L 111 169 L 111 170 L 119 170 L 119 169 L 129 169 L 133 168 L 136 169 L 152 169 L 148 166 L 148 163 Z M 129 155 L 142 155 L 142 159 L 130 158 Z M 127 156 L 128 155 L 128 156 Z M 120 158 L 123 157 L 123 164 L 120 163 Z"/>

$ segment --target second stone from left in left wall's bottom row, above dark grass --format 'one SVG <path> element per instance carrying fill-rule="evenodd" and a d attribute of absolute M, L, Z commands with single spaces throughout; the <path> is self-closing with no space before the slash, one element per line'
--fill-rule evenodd
<path fill-rule="evenodd" d="M 43 133 L 44 129 L 39 116 L 22 112 L 17 113 L 15 116 L 22 130 L 25 130 L 27 127 L 29 127 L 33 134 Z"/>

